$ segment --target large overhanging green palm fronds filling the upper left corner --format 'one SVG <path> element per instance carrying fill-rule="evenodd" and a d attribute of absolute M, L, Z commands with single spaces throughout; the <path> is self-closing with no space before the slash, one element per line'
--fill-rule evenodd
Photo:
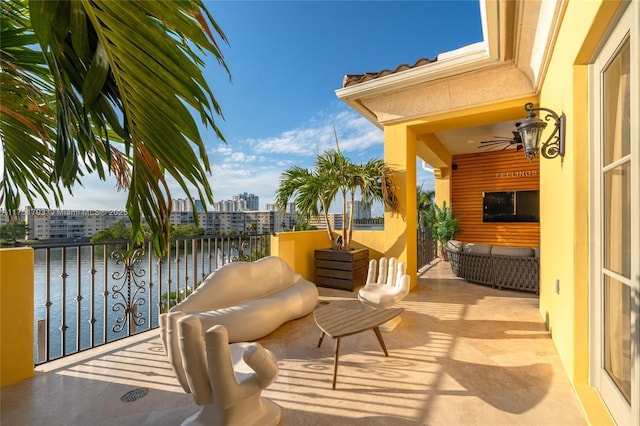
<path fill-rule="evenodd" d="M 213 202 L 191 111 L 224 141 L 200 55 L 229 73 L 216 41 L 226 37 L 202 0 L 6 0 L 0 13 L 0 203 L 16 213 L 23 194 L 60 206 L 86 173 L 113 174 L 132 239 L 144 217 L 162 254 L 167 177 Z"/>

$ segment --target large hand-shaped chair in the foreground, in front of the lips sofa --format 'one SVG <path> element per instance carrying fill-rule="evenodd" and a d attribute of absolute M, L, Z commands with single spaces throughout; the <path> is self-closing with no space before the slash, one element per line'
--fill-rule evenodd
<path fill-rule="evenodd" d="M 202 408 L 182 425 L 277 425 L 280 407 L 261 392 L 278 377 L 273 354 L 259 343 L 229 345 L 227 330 L 206 333 L 196 316 L 178 321 L 182 362 L 193 399 Z"/>

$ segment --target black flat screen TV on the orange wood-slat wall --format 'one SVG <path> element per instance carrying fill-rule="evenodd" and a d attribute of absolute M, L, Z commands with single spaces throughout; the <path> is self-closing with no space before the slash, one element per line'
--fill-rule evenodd
<path fill-rule="evenodd" d="M 539 222 L 540 191 L 485 192 L 483 222 Z"/>

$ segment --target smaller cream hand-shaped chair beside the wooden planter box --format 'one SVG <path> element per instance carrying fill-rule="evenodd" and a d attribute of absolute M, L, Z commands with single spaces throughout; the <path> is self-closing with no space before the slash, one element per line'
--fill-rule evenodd
<path fill-rule="evenodd" d="M 409 294 L 409 276 L 406 274 L 407 265 L 398 262 L 395 257 L 380 258 L 380 268 L 376 278 L 377 262 L 369 262 L 367 282 L 358 292 L 358 299 L 373 309 L 386 309 L 395 305 Z M 380 330 L 393 331 L 402 321 L 400 316 L 382 324 Z"/>

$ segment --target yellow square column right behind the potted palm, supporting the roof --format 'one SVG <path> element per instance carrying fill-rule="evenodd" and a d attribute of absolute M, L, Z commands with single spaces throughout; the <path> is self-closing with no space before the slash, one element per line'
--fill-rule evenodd
<path fill-rule="evenodd" d="M 407 263 L 407 274 L 413 288 L 418 283 L 415 133 L 405 125 L 385 127 L 384 160 L 395 170 L 393 183 L 400 202 L 396 214 L 385 208 L 385 255 Z"/>

